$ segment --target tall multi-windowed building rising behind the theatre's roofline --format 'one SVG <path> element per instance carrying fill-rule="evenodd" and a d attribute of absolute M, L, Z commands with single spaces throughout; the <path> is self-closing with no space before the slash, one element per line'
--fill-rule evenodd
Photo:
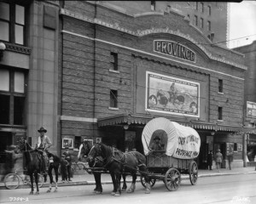
<path fill-rule="evenodd" d="M 101 2 L 101 1 L 100 1 Z M 126 14 L 142 12 L 177 12 L 183 14 L 192 26 L 213 43 L 227 47 L 228 3 L 225 2 L 173 2 L 173 1 L 102 1 L 110 8 L 122 9 Z"/>

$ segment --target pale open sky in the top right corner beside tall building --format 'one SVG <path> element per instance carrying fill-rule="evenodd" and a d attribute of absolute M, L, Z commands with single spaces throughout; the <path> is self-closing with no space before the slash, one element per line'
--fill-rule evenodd
<path fill-rule="evenodd" d="M 230 3 L 229 48 L 241 47 L 256 40 L 256 0 Z"/>

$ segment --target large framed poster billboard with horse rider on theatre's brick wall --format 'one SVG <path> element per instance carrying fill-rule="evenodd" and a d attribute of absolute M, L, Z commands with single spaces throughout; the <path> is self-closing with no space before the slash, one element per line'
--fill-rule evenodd
<path fill-rule="evenodd" d="M 146 111 L 200 116 L 200 83 L 146 71 Z"/>

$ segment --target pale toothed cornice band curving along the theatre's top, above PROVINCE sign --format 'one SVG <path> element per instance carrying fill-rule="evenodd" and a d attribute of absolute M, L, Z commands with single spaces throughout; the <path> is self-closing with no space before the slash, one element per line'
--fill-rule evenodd
<path fill-rule="evenodd" d="M 100 25 L 100 26 L 105 26 L 105 27 L 111 28 L 111 29 L 116 30 L 116 31 L 125 32 L 125 33 L 130 34 L 130 35 L 135 36 L 135 37 L 143 37 L 143 36 L 146 36 L 146 35 L 149 35 L 149 34 L 155 34 L 155 33 L 167 33 L 167 34 L 183 37 L 183 38 L 189 40 L 190 42 L 194 43 L 195 46 L 201 48 L 201 50 L 205 54 L 207 54 L 207 57 L 209 59 L 212 59 L 212 60 L 215 60 L 215 61 L 218 61 L 218 62 L 222 62 L 222 63 L 227 64 L 227 65 L 232 65 L 232 66 L 235 66 L 237 68 L 241 68 L 242 70 L 247 70 L 247 66 L 245 66 L 245 65 L 240 65 L 240 64 L 231 62 L 229 60 L 226 60 L 224 58 L 218 58 L 218 57 L 213 56 L 211 53 L 209 53 L 207 51 L 206 48 L 201 46 L 201 44 L 199 42 L 196 42 L 192 37 L 190 37 L 189 34 L 183 34 L 178 29 L 177 29 L 177 31 L 173 31 L 171 28 L 166 26 L 165 28 L 151 27 L 151 28 L 143 30 L 143 31 L 141 31 L 141 30 L 131 31 L 131 30 L 128 30 L 124 27 L 119 26 L 118 23 L 110 24 L 110 23 L 108 23 L 104 20 L 93 19 L 93 18 L 87 17 L 83 14 L 74 13 L 70 10 L 65 9 L 65 8 L 61 8 L 60 14 L 67 15 L 69 17 L 73 17 L 73 18 L 78 19 L 78 20 L 84 20 L 86 22 L 94 23 L 94 24 L 97 24 L 97 25 Z"/>

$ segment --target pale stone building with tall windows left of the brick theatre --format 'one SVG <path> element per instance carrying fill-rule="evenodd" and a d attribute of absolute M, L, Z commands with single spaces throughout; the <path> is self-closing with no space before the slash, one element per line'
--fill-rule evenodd
<path fill-rule="evenodd" d="M 54 1 L 0 1 L 0 138 L 3 150 L 20 137 L 34 146 L 45 127 L 57 152 L 58 20 Z M 3 169 L 3 168 L 1 168 Z"/>

